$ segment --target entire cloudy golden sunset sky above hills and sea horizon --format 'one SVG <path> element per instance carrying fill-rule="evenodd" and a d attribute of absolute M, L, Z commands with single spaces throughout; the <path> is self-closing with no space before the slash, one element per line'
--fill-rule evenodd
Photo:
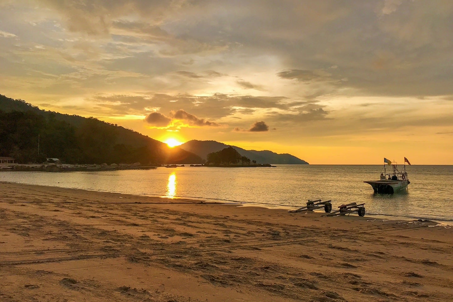
<path fill-rule="evenodd" d="M 0 94 L 311 164 L 453 164 L 451 0 L 0 0 Z"/>

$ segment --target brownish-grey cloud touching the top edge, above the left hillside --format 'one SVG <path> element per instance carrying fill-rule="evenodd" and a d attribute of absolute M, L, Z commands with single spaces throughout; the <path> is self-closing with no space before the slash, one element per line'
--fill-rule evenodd
<path fill-rule="evenodd" d="M 188 0 L 37 0 L 43 8 L 60 14 L 63 25 L 72 33 L 115 38 L 141 47 L 159 44 L 159 57 L 190 53 L 216 53 L 227 48 L 226 41 L 195 38 L 193 35 L 169 32 L 161 26 L 172 17 L 184 14 Z M 133 15 L 135 21 L 130 21 Z"/>

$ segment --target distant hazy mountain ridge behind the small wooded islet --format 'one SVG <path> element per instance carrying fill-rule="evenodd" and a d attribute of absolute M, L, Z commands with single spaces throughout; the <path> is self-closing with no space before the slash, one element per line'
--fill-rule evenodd
<path fill-rule="evenodd" d="M 217 152 L 222 149 L 230 147 L 223 143 L 219 143 L 215 140 L 189 140 L 188 142 L 180 145 L 181 149 L 188 152 L 197 154 L 199 157 L 206 159 L 207 154 Z M 242 156 L 246 156 L 251 160 L 255 159 L 257 163 L 275 163 L 275 164 L 305 164 L 308 163 L 303 159 L 297 158 L 294 155 L 284 153 L 278 154 L 269 150 L 257 151 L 257 150 L 246 150 L 236 146 L 231 146 L 236 149 Z"/>

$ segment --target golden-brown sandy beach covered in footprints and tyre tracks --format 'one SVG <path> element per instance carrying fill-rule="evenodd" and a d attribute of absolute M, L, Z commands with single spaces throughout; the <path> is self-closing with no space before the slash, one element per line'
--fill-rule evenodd
<path fill-rule="evenodd" d="M 1 302 L 453 301 L 431 221 L 0 187 Z"/>

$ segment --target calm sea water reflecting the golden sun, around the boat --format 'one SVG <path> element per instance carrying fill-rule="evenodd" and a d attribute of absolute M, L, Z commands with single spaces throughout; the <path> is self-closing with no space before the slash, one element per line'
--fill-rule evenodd
<path fill-rule="evenodd" d="M 357 202 L 367 215 L 453 221 L 453 166 L 406 166 L 408 190 L 375 195 L 365 180 L 377 180 L 382 165 L 277 165 L 277 168 L 178 167 L 105 172 L 1 172 L 0 181 L 146 196 L 191 197 L 305 206 L 308 199 L 337 206 Z M 382 171 L 383 172 L 383 171 Z M 390 218 L 390 217 L 388 217 Z"/>

